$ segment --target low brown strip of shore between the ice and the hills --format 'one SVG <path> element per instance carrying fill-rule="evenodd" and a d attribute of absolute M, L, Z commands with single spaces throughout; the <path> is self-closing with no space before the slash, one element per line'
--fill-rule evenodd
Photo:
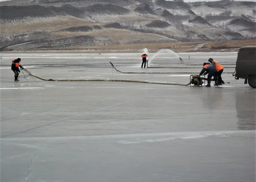
<path fill-rule="evenodd" d="M 52 53 L 138 53 L 143 49 L 151 53 L 159 50 L 169 49 L 175 53 L 192 53 L 192 52 L 237 52 L 241 47 L 247 45 L 256 45 L 256 38 L 243 40 L 228 41 L 205 41 L 205 42 L 172 42 L 172 43 L 142 43 L 142 44 L 118 44 L 118 45 L 93 45 L 87 47 L 54 47 L 38 48 L 28 50 L 1 50 L 1 53 L 15 52 L 52 52 Z"/>

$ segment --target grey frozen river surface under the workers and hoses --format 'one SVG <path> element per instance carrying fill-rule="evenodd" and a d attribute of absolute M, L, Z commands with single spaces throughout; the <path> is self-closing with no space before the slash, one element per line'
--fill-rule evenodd
<path fill-rule="evenodd" d="M 14 82 L 10 69 L 19 57 L 45 78 L 179 83 L 188 83 L 190 74 L 112 73 L 109 61 L 121 71 L 201 71 L 141 69 L 140 54 L 1 54 L 1 182 L 255 182 L 256 90 L 225 73 L 232 65 L 222 74 L 226 84 L 211 88 Z M 179 56 L 187 64 L 210 57 L 235 63 L 237 53 Z M 150 65 L 182 67 L 168 53 Z"/>

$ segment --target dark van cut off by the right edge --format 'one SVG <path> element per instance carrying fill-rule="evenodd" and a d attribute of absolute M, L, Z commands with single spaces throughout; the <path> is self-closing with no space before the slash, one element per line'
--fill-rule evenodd
<path fill-rule="evenodd" d="M 237 53 L 236 71 L 233 73 L 236 80 L 245 79 L 244 84 L 256 88 L 256 46 L 241 47 Z"/>

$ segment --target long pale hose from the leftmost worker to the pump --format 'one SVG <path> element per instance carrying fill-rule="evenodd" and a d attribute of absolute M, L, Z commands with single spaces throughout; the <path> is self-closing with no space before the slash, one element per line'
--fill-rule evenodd
<path fill-rule="evenodd" d="M 29 72 L 27 69 L 25 69 L 24 67 L 21 67 L 21 70 L 26 71 L 29 75 L 31 75 L 32 77 L 38 78 L 40 80 L 44 80 L 44 81 L 112 81 L 112 82 L 138 82 L 138 83 L 154 83 L 154 84 L 166 84 L 166 85 L 190 85 L 191 82 L 189 83 L 176 83 L 176 82 L 161 82 L 161 81 L 147 81 L 147 80 L 119 80 L 119 79 L 102 79 L 102 78 L 93 78 L 93 79 L 51 79 L 51 78 L 43 78 L 43 77 L 39 77 L 31 72 Z"/>

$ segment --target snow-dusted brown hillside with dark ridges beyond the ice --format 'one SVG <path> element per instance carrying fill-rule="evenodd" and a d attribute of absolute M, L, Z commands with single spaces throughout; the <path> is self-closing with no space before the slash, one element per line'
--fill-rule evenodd
<path fill-rule="evenodd" d="M 0 2 L 0 49 L 255 38 L 256 2 L 10 0 Z"/>

